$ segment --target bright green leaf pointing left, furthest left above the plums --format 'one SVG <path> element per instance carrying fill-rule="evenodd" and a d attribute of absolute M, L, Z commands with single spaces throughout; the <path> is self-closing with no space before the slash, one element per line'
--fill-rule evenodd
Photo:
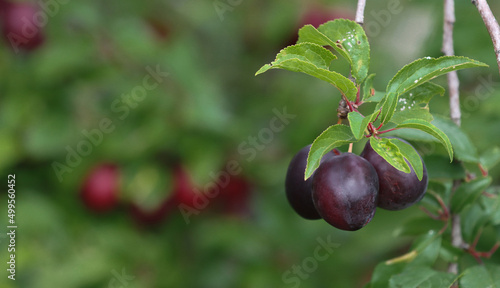
<path fill-rule="evenodd" d="M 335 55 L 320 45 L 312 43 L 297 44 L 281 50 L 274 62 L 262 66 L 255 75 L 264 73 L 269 69 L 278 68 L 302 72 L 332 84 L 347 99 L 354 101 L 358 91 L 354 83 L 341 74 L 328 70 L 330 62 L 335 58 Z"/>

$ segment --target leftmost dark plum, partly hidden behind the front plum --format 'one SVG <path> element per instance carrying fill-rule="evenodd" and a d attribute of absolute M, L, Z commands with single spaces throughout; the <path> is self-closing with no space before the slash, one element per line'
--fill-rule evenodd
<path fill-rule="evenodd" d="M 297 214 L 305 219 L 315 220 L 321 219 L 321 216 L 316 211 L 312 201 L 312 177 L 304 181 L 307 155 L 310 149 L 311 145 L 307 145 L 300 149 L 292 158 L 292 161 L 290 161 L 285 179 L 285 192 L 290 206 L 292 206 Z M 338 150 L 335 149 L 334 151 L 325 154 L 321 161 L 325 161 L 329 158 L 333 158 L 336 154 L 340 154 Z"/>

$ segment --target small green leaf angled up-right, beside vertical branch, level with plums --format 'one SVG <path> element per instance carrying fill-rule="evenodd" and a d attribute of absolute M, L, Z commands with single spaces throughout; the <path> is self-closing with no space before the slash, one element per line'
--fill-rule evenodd
<path fill-rule="evenodd" d="M 451 212 L 460 213 L 465 206 L 475 202 L 490 184 L 491 177 L 483 177 L 460 185 L 451 198 Z"/>

